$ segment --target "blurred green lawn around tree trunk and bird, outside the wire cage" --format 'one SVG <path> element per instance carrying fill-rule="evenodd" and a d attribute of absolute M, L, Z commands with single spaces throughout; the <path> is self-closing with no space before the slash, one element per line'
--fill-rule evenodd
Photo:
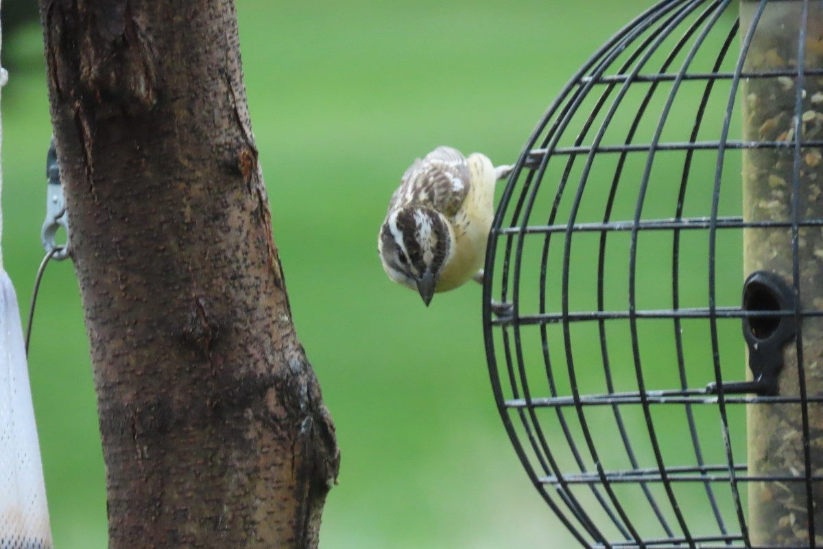
<path fill-rule="evenodd" d="M 416 156 L 449 144 L 514 161 L 570 75 L 650 4 L 238 0 L 275 237 L 342 449 L 322 547 L 574 543 L 501 426 L 479 286 L 426 309 L 385 277 L 376 235 Z M 43 255 L 49 112 L 39 26 L 5 39 L 4 58 L 19 68 L 3 93 L 3 251 L 26 310 Z M 46 272 L 31 345 L 55 547 L 105 547 L 95 396 L 69 263 Z"/>

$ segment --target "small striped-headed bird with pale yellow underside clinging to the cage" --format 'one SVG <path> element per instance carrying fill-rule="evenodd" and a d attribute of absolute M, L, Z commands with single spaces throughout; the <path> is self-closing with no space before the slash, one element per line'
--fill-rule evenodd
<path fill-rule="evenodd" d="M 495 184 L 511 166 L 496 167 L 437 147 L 403 174 L 388 202 L 377 249 L 388 277 L 417 291 L 428 307 L 435 292 L 483 281 L 481 267 L 495 215 Z"/>

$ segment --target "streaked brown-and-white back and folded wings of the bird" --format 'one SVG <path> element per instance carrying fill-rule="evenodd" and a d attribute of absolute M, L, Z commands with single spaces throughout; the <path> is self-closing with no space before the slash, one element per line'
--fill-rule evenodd
<path fill-rule="evenodd" d="M 466 199 L 471 179 L 472 172 L 460 151 L 437 147 L 406 170 L 388 209 L 420 203 L 428 204 L 446 216 L 453 216 Z"/>

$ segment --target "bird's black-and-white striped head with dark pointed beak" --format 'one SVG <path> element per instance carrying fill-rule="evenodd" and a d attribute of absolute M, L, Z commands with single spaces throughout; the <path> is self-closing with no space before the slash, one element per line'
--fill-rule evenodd
<path fill-rule="evenodd" d="M 429 207 L 389 212 L 380 227 L 377 250 L 388 277 L 416 290 L 426 306 L 452 254 L 449 223 Z"/>

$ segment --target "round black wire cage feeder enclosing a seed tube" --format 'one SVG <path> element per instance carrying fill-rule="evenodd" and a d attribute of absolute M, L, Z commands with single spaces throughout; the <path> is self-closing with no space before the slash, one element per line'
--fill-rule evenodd
<path fill-rule="evenodd" d="M 651 7 L 504 190 L 492 386 L 585 547 L 823 547 L 821 4 Z"/>

